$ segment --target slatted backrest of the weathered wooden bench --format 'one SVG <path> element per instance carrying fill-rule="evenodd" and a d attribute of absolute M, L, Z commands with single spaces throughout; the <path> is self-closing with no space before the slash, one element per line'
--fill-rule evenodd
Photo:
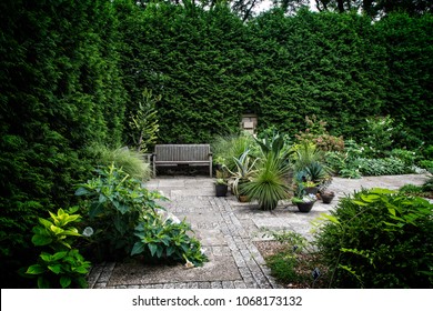
<path fill-rule="evenodd" d="M 210 144 L 157 144 L 158 161 L 209 161 Z"/>

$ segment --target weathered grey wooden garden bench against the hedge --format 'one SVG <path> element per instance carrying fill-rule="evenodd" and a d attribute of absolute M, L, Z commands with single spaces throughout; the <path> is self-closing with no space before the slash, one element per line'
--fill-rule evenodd
<path fill-rule="evenodd" d="M 153 175 L 157 167 L 172 164 L 205 164 L 212 177 L 212 153 L 210 144 L 157 144 L 153 157 Z"/>

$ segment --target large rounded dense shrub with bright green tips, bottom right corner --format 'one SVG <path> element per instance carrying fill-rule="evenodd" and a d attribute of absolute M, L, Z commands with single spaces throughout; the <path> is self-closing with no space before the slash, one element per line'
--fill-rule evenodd
<path fill-rule="evenodd" d="M 316 234 L 335 288 L 433 288 L 433 204 L 386 189 L 343 198 Z"/>

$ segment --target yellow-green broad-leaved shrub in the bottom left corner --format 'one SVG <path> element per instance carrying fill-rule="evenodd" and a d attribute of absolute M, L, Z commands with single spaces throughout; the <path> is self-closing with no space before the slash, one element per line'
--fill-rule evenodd
<path fill-rule="evenodd" d="M 43 247 L 38 263 L 30 265 L 27 274 L 38 278 L 40 289 L 48 288 L 87 288 L 85 277 L 90 262 L 85 261 L 78 249 L 72 244 L 81 234 L 78 229 L 71 227 L 79 222 L 81 215 L 74 214 L 78 208 L 67 212 L 59 209 L 57 214 L 51 213 L 50 219 L 39 218 L 39 223 L 33 228 L 32 242 L 36 247 Z"/>

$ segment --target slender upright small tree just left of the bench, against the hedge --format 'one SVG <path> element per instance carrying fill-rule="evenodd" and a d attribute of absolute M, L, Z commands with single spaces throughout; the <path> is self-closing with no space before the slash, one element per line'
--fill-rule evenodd
<path fill-rule="evenodd" d="M 153 96 L 152 90 L 144 89 L 143 101 L 139 101 L 138 110 L 131 116 L 131 138 L 139 152 L 147 152 L 158 138 L 159 120 L 157 102 L 161 96 Z"/>

